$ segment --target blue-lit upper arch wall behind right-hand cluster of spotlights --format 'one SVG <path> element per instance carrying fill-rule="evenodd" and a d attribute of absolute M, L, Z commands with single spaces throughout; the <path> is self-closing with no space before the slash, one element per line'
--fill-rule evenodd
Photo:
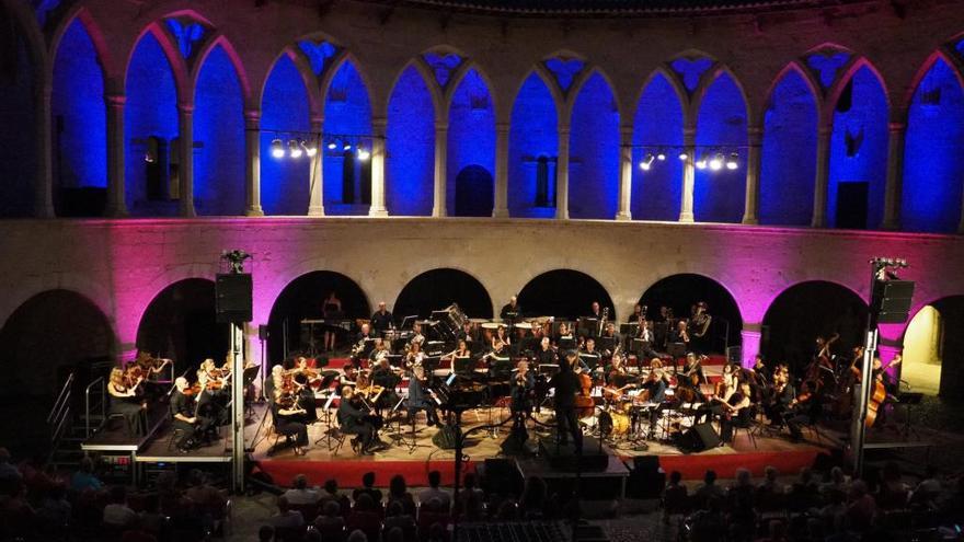
<path fill-rule="evenodd" d="M 746 145 L 746 105 L 739 88 L 721 73 L 700 103 L 697 147 Z M 712 151 L 711 151 L 712 152 Z M 693 217 L 699 222 L 739 222 L 746 193 L 746 150 L 739 149 L 736 170 L 697 170 L 693 185 Z M 724 154 L 726 154 L 724 152 Z"/>

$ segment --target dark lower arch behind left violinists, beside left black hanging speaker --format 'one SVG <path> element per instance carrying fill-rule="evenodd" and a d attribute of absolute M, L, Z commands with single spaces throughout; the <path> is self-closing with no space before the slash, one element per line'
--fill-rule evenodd
<path fill-rule="evenodd" d="M 206 278 L 179 280 L 154 296 L 137 326 L 137 348 L 171 358 L 174 372 L 205 358 L 223 361 L 228 324 L 217 322 L 215 284 Z"/>

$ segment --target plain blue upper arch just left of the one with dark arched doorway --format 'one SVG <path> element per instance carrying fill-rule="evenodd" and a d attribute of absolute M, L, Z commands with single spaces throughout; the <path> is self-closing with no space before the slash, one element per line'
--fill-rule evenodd
<path fill-rule="evenodd" d="M 435 107 L 418 71 L 402 72 L 388 103 L 386 205 L 390 215 L 432 215 Z"/>

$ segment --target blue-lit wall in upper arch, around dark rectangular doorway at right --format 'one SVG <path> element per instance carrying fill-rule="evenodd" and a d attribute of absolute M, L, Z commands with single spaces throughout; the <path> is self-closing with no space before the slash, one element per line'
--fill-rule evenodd
<path fill-rule="evenodd" d="M 875 229 L 884 216 L 887 177 L 887 100 L 876 76 L 867 67 L 853 74 L 849 111 L 834 114 L 830 138 L 830 178 L 827 187 L 827 224 L 836 226 L 837 189 L 841 182 L 870 183 L 867 227 Z M 848 155 L 848 140 L 853 155 Z"/>

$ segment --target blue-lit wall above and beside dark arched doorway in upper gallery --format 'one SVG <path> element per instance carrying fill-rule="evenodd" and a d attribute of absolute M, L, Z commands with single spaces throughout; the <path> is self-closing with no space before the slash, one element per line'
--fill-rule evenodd
<path fill-rule="evenodd" d="M 494 176 L 495 109 L 489 87 L 474 69 L 459 82 L 449 107 L 446 201 L 451 216 L 456 214 L 456 177 L 470 165 Z"/>

